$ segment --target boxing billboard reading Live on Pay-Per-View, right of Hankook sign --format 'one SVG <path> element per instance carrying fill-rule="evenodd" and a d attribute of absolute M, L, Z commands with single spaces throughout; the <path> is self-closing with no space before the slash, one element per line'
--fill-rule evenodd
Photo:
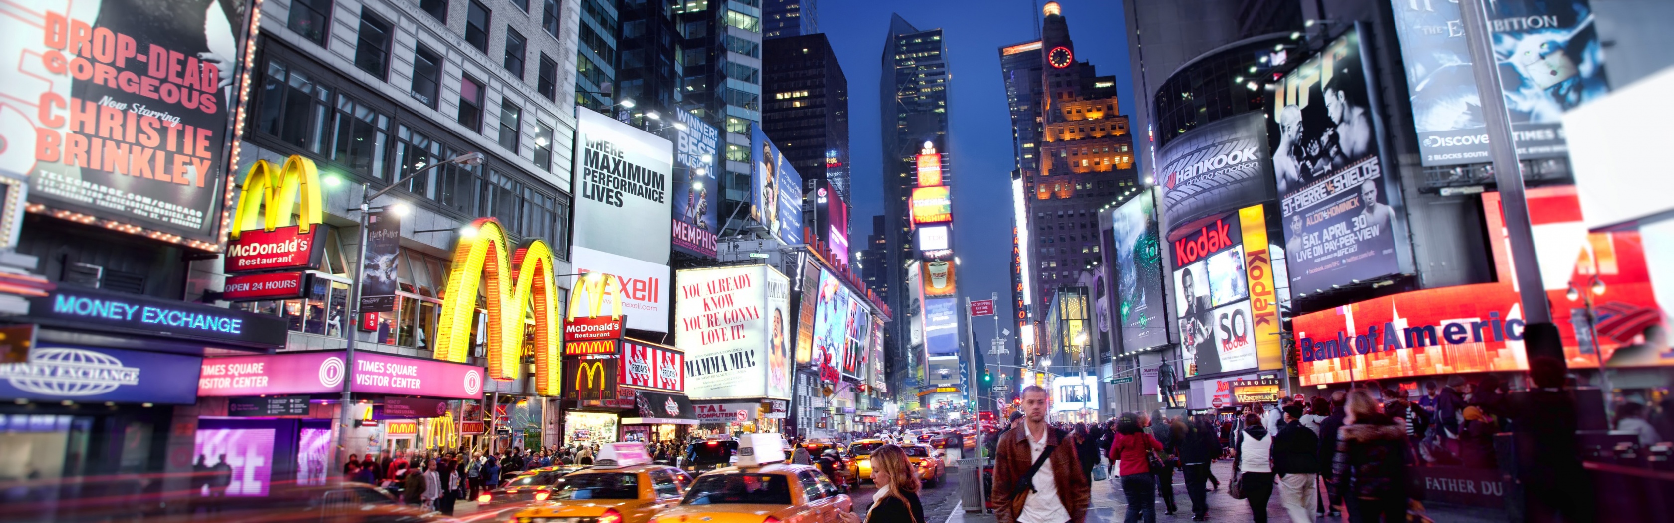
<path fill-rule="evenodd" d="M 1404 270 L 1399 184 L 1381 161 L 1359 30 L 1279 79 L 1269 142 L 1296 293 Z"/>

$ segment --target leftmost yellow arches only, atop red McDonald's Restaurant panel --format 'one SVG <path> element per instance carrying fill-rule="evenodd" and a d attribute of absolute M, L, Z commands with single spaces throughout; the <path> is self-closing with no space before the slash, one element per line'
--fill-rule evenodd
<path fill-rule="evenodd" d="M 244 176 L 244 191 L 233 210 L 233 240 L 238 240 L 241 231 L 258 226 L 266 231 L 290 226 L 291 211 L 298 203 L 301 203 L 301 220 L 296 223 L 300 233 L 325 221 L 320 169 L 315 168 L 313 159 L 291 154 L 285 159 L 285 168 L 275 168 L 266 159 L 258 159 L 249 166 L 249 174 Z M 261 221 L 256 221 L 258 218 Z"/>

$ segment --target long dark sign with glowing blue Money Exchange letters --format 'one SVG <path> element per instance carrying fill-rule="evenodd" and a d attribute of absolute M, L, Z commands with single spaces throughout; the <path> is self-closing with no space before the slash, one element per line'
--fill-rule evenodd
<path fill-rule="evenodd" d="M 60 288 L 30 298 L 30 320 L 75 329 L 226 342 L 285 345 L 285 320 L 241 310 L 90 288 Z"/>

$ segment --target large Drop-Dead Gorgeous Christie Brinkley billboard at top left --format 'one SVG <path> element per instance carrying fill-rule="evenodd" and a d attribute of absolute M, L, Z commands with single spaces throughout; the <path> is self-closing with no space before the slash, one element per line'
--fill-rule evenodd
<path fill-rule="evenodd" d="M 28 199 L 50 208 L 218 243 L 244 5 L 17 7 L 30 17 L 0 37 L 0 96 L 30 109 L 0 111 L 0 174 L 27 178 Z"/>

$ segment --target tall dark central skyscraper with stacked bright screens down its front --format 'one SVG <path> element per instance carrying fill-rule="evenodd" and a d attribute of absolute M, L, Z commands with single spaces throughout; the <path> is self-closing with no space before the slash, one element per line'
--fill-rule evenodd
<path fill-rule="evenodd" d="M 891 290 L 889 307 L 901 310 L 902 317 L 909 317 L 914 313 L 909 305 L 917 302 L 909 300 L 909 297 L 919 295 L 916 288 L 906 285 L 909 263 L 912 263 L 911 267 L 924 265 L 927 272 L 931 263 L 939 262 L 936 265 L 939 282 L 949 287 L 949 297 L 953 295 L 949 280 L 958 282 L 958 275 L 951 273 L 953 245 L 949 225 L 944 223 L 951 220 L 951 211 L 946 213 L 947 216 L 937 213 L 942 203 L 949 205 L 951 210 L 951 203 L 946 201 L 946 186 L 954 179 L 944 153 L 947 151 L 947 60 L 941 28 L 919 30 L 901 15 L 892 15 L 884 40 L 879 89 L 879 124 L 882 126 L 882 166 L 879 173 L 884 178 L 884 225 L 887 226 L 884 235 L 891 246 L 884 260 L 889 267 L 884 285 Z M 931 173 L 926 168 L 931 164 L 936 168 L 934 179 L 927 179 Z M 937 199 L 937 196 L 941 198 Z M 921 206 L 924 213 L 914 213 L 916 206 Z M 916 221 L 927 226 L 916 226 Z M 942 236 L 926 238 L 922 236 L 926 231 L 932 235 L 939 231 Z M 917 240 L 934 241 L 921 245 Z M 921 246 L 934 248 L 926 251 Z M 927 283 L 921 282 L 921 285 Z M 922 345 L 912 347 L 911 330 L 904 324 L 891 322 L 886 340 L 887 350 L 894 355 L 891 357 L 891 375 L 896 377 L 896 382 L 891 384 L 891 391 L 897 391 L 897 394 L 906 389 L 906 384 L 926 384 L 916 375 L 926 374 L 921 365 L 924 364 L 922 355 L 927 352 Z M 936 327 L 939 329 L 939 325 Z M 926 342 L 936 340 L 929 332 L 924 339 Z M 953 342 L 958 345 L 958 337 Z M 954 370 L 958 369 L 954 367 Z M 909 379 L 909 374 L 914 377 Z"/>

